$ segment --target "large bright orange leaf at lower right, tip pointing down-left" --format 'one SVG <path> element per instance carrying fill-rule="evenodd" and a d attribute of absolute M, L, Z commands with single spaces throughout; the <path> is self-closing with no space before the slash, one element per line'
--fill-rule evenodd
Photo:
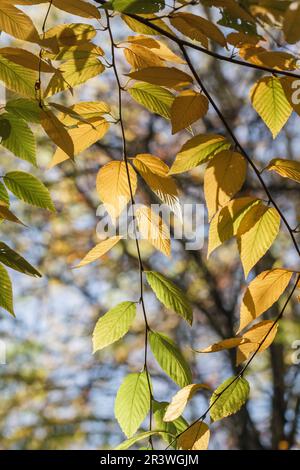
<path fill-rule="evenodd" d="M 286 269 L 272 269 L 260 273 L 250 282 L 242 300 L 238 333 L 272 307 L 287 288 L 292 275 L 293 272 Z"/>

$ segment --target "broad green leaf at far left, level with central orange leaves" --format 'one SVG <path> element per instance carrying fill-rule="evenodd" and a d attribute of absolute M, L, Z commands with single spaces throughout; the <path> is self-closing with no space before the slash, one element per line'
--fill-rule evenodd
<path fill-rule="evenodd" d="M 10 171 L 3 180 L 7 188 L 21 201 L 55 212 L 48 189 L 35 176 L 25 171 Z"/>

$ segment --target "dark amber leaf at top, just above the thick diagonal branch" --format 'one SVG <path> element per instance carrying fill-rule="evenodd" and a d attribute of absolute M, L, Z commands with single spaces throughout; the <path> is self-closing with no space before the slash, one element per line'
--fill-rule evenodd
<path fill-rule="evenodd" d="M 208 47 L 207 40 L 209 38 L 220 46 L 226 46 L 226 39 L 220 29 L 211 21 L 192 13 L 176 13 L 170 18 L 172 26 L 181 33 L 191 39 L 200 41 L 205 47 Z"/>

